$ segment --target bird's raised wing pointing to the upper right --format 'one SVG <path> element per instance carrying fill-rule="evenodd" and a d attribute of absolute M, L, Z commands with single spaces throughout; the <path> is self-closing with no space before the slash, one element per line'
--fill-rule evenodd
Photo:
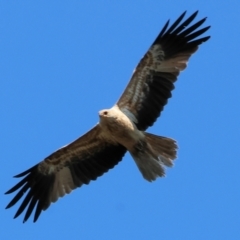
<path fill-rule="evenodd" d="M 181 23 L 184 12 L 171 27 L 169 21 L 141 59 L 118 107 L 136 123 L 139 130 L 152 126 L 167 104 L 174 82 L 188 59 L 210 37 L 198 38 L 210 26 L 198 30 L 206 18 L 189 26 L 198 12 Z"/>

